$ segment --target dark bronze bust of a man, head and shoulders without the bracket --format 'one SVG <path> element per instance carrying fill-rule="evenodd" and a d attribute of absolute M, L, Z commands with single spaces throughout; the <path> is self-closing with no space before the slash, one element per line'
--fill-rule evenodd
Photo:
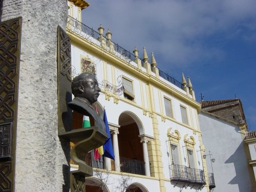
<path fill-rule="evenodd" d="M 92 116 L 99 129 L 105 131 L 103 120 L 92 106 L 97 101 L 100 92 L 95 76 L 91 73 L 81 73 L 72 81 L 71 89 L 75 98 L 68 103 L 68 106 L 82 115 Z"/>

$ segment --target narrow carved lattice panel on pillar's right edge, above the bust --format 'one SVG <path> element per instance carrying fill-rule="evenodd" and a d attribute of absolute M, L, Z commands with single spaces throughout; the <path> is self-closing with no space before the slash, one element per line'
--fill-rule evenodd
<path fill-rule="evenodd" d="M 58 39 L 58 60 L 61 62 L 60 73 L 66 75 L 72 81 L 70 38 L 63 29 L 59 28 Z"/>

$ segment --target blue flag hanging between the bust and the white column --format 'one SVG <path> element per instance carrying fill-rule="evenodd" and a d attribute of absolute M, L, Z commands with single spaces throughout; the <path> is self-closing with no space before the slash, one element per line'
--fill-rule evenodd
<path fill-rule="evenodd" d="M 106 118 L 106 110 L 104 110 L 103 121 L 106 126 L 106 133 L 108 134 L 108 139 L 106 139 L 105 144 L 103 145 L 103 150 L 104 150 L 103 156 L 115 160 L 111 134 L 110 134 L 110 127 L 109 127 L 108 119 Z"/>

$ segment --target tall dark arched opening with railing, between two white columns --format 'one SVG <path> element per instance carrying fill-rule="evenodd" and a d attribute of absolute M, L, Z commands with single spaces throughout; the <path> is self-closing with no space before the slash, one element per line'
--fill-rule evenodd
<path fill-rule="evenodd" d="M 140 142 L 142 126 L 139 119 L 130 112 L 119 116 L 118 145 L 121 172 L 145 175 L 143 147 Z M 139 129 L 140 127 L 140 129 Z"/>

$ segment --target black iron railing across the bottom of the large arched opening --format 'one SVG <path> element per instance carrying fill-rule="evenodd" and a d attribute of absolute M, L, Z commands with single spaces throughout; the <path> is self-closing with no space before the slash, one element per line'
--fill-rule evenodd
<path fill-rule="evenodd" d="M 145 162 L 135 159 L 120 157 L 121 172 L 145 175 Z"/>

